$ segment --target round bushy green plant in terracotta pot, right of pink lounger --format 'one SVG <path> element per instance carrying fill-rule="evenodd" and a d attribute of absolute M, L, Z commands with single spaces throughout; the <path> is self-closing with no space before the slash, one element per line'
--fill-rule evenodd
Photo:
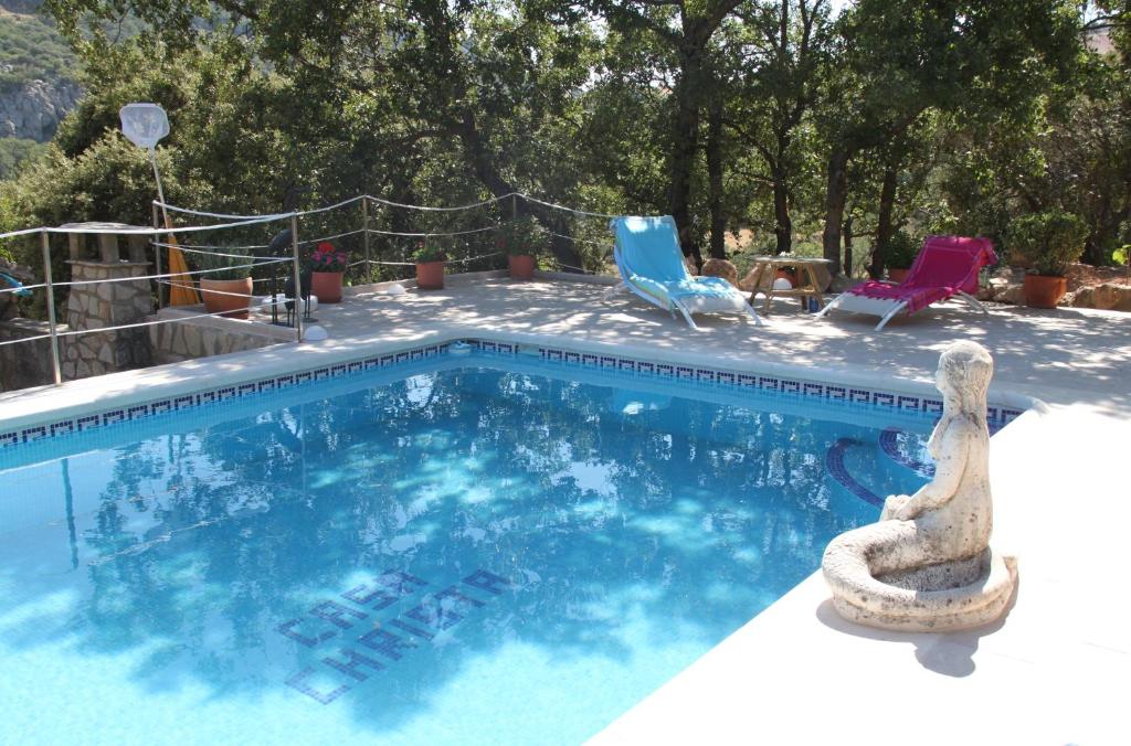
<path fill-rule="evenodd" d="M 1022 290 L 1026 305 L 1056 307 L 1068 292 L 1068 266 L 1083 254 L 1087 235 L 1083 220 L 1059 208 L 1022 215 L 1010 224 L 1010 259 L 1030 266 Z"/>

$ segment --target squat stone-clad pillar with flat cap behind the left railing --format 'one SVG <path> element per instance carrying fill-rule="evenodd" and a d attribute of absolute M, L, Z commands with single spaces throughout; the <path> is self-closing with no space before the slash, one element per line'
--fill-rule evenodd
<path fill-rule="evenodd" d="M 144 277 L 149 264 L 136 261 L 71 260 L 71 280 L 109 280 Z M 67 326 L 71 330 L 102 329 L 145 321 L 154 312 L 150 280 L 121 280 L 71 286 Z M 145 327 L 62 339 L 62 373 L 83 379 L 150 364 L 149 333 Z"/>

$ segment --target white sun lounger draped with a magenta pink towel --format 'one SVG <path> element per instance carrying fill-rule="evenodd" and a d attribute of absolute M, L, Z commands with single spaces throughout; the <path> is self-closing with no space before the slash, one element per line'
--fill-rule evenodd
<path fill-rule="evenodd" d="M 900 311 L 906 310 L 910 315 L 956 295 L 977 311 L 988 313 L 973 294 L 978 289 L 978 272 L 996 261 L 988 238 L 927 236 L 903 283 L 867 280 L 838 295 L 817 315 L 839 309 L 882 316 L 875 324 L 880 331 Z"/>

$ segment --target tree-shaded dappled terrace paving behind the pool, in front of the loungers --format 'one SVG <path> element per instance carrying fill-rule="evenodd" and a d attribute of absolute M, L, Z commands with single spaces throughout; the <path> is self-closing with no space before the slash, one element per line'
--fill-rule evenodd
<path fill-rule="evenodd" d="M 763 326 L 740 316 L 699 315 L 701 331 L 682 319 L 607 286 L 515 283 L 503 278 L 449 281 L 443 290 L 400 296 L 364 293 L 314 314 L 333 338 L 389 338 L 422 326 L 537 335 L 575 341 L 647 347 L 657 354 L 700 353 L 728 361 L 796 365 L 817 378 L 852 370 L 883 379 L 931 383 L 939 353 L 955 339 L 973 339 L 994 356 L 998 389 L 1051 404 L 1083 404 L 1131 414 L 1131 314 L 1059 309 L 1041 311 L 987 304 L 988 315 L 953 302 L 893 320 L 834 311 L 814 319 L 792 300 L 775 301 Z M 761 298 L 758 302 L 761 307 Z"/>

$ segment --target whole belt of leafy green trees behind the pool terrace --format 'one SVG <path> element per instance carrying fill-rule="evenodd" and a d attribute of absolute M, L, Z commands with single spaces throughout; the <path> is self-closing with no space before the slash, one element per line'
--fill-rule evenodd
<path fill-rule="evenodd" d="M 279 211 L 293 188 L 297 207 L 361 192 L 451 206 L 521 191 L 597 212 L 685 209 L 685 245 L 723 229 L 768 245 L 789 226 L 795 251 L 821 255 L 839 188 L 829 164 L 841 153 L 836 227 L 856 236 L 857 266 L 872 253 L 863 236 L 898 243 L 891 231 L 906 226 L 1000 240 L 1046 207 L 1081 216 L 1088 257 L 1111 261 L 1131 203 L 1129 57 L 1087 53 L 1074 3 L 861 0 L 837 18 L 827 5 L 50 0 L 89 94 L 0 189 L 0 223 L 148 223 L 145 154 L 115 132 L 123 104 L 154 101 L 172 124 L 158 148 L 167 198 L 216 211 Z M 119 37 L 123 18 L 131 31 Z M 559 266 L 610 267 L 604 219 L 521 207 L 532 231 L 559 234 L 549 242 Z M 503 200 L 440 224 L 380 208 L 370 225 L 477 231 L 512 209 Z M 304 218 L 300 234 L 357 220 Z M 476 257 L 494 238 L 426 249 Z M 412 252 L 402 238 L 371 243 L 387 259 Z"/>

